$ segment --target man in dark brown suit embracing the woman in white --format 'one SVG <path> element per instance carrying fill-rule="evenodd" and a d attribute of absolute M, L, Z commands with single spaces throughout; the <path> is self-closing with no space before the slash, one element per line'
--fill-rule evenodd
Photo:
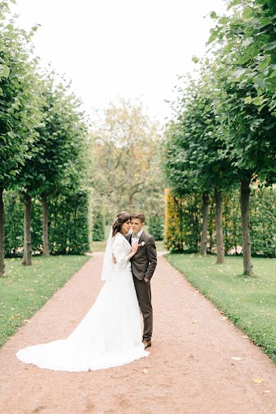
<path fill-rule="evenodd" d="M 150 279 L 157 265 L 155 239 L 144 230 L 143 213 L 130 215 L 132 234 L 126 235 L 131 246 L 138 243 L 137 253 L 130 259 L 136 294 L 144 318 L 143 342 L 145 349 L 151 346 L 152 306 Z"/>

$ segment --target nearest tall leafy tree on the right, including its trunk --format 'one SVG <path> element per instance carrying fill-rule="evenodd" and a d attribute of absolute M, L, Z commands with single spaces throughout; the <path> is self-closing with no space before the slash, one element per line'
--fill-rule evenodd
<path fill-rule="evenodd" d="M 217 26 L 215 77 L 217 111 L 224 125 L 226 151 L 239 169 L 244 273 L 253 274 L 250 249 L 250 182 L 276 179 L 276 4 L 271 0 L 233 0 L 230 17 L 213 17 Z"/>

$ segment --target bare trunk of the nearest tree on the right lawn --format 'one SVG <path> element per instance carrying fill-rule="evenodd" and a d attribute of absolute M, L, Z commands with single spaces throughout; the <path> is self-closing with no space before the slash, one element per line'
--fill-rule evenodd
<path fill-rule="evenodd" d="M 253 275 L 251 259 L 250 223 L 249 223 L 249 196 L 250 179 L 241 182 L 241 210 L 242 210 L 242 256 L 244 259 L 244 274 Z"/>

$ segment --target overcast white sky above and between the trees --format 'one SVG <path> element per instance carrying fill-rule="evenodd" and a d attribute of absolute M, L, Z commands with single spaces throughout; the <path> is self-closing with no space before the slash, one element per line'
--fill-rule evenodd
<path fill-rule="evenodd" d="M 204 55 L 224 0 L 17 0 L 19 26 L 41 27 L 34 36 L 45 66 L 72 79 L 88 112 L 119 97 L 139 97 L 152 117 L 170 115 L 177 75 Z"/>

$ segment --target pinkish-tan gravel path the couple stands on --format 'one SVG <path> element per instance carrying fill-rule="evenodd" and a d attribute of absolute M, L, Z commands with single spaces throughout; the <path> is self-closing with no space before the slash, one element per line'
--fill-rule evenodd
<path fill-rule="evenodd" d="M 77 326 L 101 288 L 102 257 L 94 253 L 1 349 L 1 414 L 276 413 L 275 365 L 163 257 L 152 279 L 148 358 L 88 373 L 20 362 L 19 348 L 64 338 Z"/>

